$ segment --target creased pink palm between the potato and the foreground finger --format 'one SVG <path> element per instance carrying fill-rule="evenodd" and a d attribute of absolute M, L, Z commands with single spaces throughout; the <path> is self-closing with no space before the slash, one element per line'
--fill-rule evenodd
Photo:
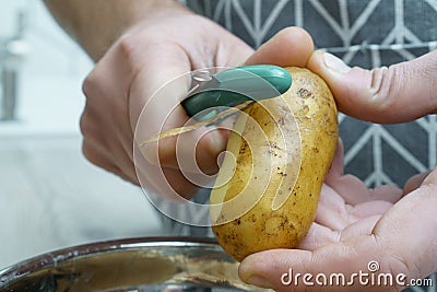
<path fill-rule="evenodd" d="M 299 248 L 314 250 L 327 244 L 370 234 L 381 215 L 402 196 L 393 186 L 368 189 L 363 182 L 343 174 L 343 148 L 339 150 L 323 184 L 315 223 Z"/>

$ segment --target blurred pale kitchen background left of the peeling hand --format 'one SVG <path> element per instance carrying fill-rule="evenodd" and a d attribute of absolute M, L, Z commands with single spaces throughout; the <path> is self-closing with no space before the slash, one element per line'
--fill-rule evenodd
<path fill-rule="evenodd" d="M 0 0 L 0 269 L 71 245 L 162 233 L 140 188 L 81 152 L 93 63 L 42 1 Z"/>

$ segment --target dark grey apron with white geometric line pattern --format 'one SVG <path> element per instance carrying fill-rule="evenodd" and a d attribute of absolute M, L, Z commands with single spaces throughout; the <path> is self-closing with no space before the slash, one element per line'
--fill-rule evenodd
<path fill-rule="evenodd" d="M 435 0 L 187 0 L 187 4 L 255 48 L 296 25 L 310 33 L 317 48 L 363 68 L 411 60 L 437 48 Z M 346 172 L 369 187 L 402 187 L 414 174 L 437 164 L 435 115 L 391 126 L 341 115 L 340 136 Z"/>

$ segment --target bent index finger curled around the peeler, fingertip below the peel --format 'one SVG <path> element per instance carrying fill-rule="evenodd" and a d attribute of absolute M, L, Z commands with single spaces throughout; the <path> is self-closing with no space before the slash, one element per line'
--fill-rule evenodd
<path fill-rule="evenodd" d="M 150 57 L 147 67 L 138 74 L 132 85 L 131 114 L 132 122 L 135 115 L 139 115 L 134 126 L 138 143 L 189 121 L 180 101 L 190 87 L 191 67 L 187 60 L 180 62 L 180 59 L 187 59 L 185 51 L 177 48 L 168 50 L 169 52 L 160 52 L 158 62 Z M 164 58 L 163 54 L 168 56 Z M 143 108 L 141 114 L 138 108 Z M 154 165 L 184 170 L 187 173 L 214 174 L 218 170 L 217 155 L 226 149 L 227 137 L 226 130 L 201 127 L 144 145 L 141 150 Z"/>

